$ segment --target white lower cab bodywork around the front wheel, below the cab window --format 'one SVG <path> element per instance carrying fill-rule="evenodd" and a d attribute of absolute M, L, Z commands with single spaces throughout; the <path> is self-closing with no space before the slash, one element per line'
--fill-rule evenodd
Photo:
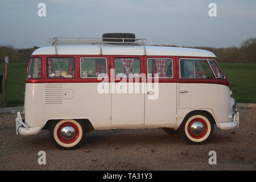
<path fill-rule="evenodd" d="M 212 110 L 216 122 L 229 122 L 232 115 L 230 99 L 230 89 L 226 85 L 179 83 L 179 110 L 183 113 L 180 120 L 190 110 Z"/>

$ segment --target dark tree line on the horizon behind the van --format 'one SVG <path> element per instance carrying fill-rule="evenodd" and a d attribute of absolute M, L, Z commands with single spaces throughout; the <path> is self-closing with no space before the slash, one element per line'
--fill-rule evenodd
<path fill-rule="evenodd" d="M 154 45 L 154 46 L 172 46 L 174 45 Z M 184 46 L 182 46 L 184 47 Z M 0 46 L 0 62 L 5 60 L 5 56 L 9 57 L 10 61 L 28 61 L 35 49 L 20 48 L 16 49 L 13 46 Z M 217 56 L 220 63 L 256 63 L 256 38 L 249 38 L 241 43 L 240 47 L 230 46 L 227 48 L 214 48 L 214 47 L 189 47 L 204 49 L 213 52 Z"/>

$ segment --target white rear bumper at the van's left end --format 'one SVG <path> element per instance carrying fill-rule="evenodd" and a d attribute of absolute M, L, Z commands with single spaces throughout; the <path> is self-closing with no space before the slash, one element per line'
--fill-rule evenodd
<path fill-rule="evenodd" d="M 36 135 L 40 133 L 41 127 L 28 127 L 22 119 L 20 112 L 16 117 L 16 134 L 17 135 Z"/>

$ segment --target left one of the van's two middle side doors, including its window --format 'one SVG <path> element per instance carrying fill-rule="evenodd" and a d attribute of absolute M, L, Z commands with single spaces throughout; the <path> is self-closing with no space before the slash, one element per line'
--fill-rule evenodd
<path fill-rule="evenodd" d="M 137 92 L 142 86 L 143 56 L 111 56 L 111 60 L 112 128 L 144 125 L 144 93 Z"/>

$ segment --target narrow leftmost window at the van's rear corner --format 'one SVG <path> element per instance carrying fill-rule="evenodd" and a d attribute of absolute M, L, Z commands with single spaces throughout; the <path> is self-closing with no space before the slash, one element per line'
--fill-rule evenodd
<path fill-rule="evenodd" d="M 40 57 L 31 58 L 27 78 L 42 78 L 42 59 Z"/>

